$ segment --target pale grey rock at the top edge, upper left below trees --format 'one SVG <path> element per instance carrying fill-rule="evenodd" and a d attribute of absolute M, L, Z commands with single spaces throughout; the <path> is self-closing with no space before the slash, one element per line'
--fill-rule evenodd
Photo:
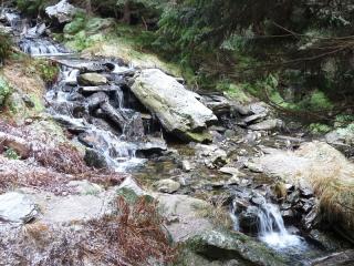
<path fill-rule="evenodd" d="M 70 4 L 67 0 L 62 0 L 55 6 L 45 8 L 45 13 L 50 18 L 56 19 L 59 23 L 72 21 L 77 11 L 79 9 Z"/>

